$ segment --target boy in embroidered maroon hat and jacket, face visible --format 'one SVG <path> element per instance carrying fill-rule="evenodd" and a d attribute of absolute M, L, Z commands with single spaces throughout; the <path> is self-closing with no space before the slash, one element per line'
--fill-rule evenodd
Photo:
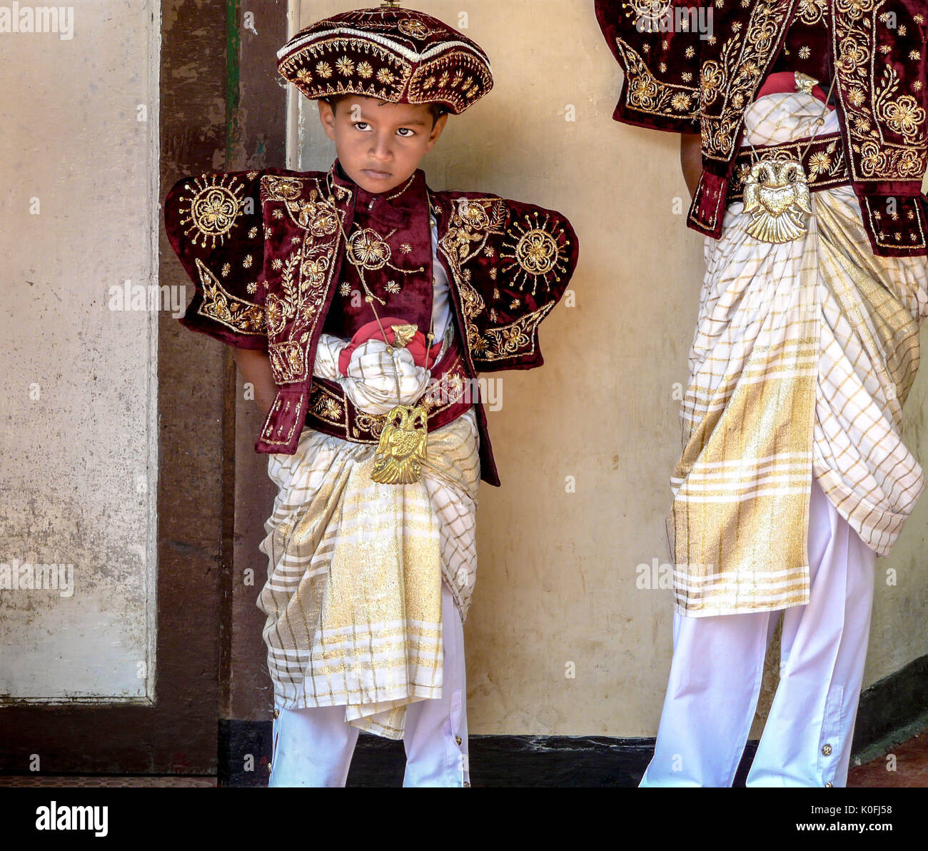
<path fill-rule="evenodd" d="M 267 412 L 270 785 L 344 785 L 364 729 L 404 740 L 405 785 L 468 786 L 462 624 L 477 487 L 499 484 L 477 372 L 541 366 L 577 240 L 560 213 L 426 186 L 447 113 L 493 86 L 442 21 L 346 12 L 278 70 L 320 98 L 329 172 L 191 175 L 164 212 L 197 288 L 181 321 L 236 347 Z"/>

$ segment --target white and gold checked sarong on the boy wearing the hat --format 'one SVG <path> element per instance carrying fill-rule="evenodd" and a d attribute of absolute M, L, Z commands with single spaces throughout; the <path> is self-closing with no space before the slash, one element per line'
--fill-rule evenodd
<path fill-rule="evenodd" d="M 401 739 L 406 704 L 441 696 L 442 582 L 463 620 L 477 568 L 478 441 L 471 408 L 430 432 L 421 480 L 402 485 L 371 480 L 376 446 L 308 428 L 295 455 L 269 456 L 257 605 L 277 706 L 343 705 Z"/>

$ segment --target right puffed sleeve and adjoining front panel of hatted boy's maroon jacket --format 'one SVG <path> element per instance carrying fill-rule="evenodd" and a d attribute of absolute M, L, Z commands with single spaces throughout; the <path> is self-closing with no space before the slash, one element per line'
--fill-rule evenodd
<path fill-rule="evenodd" d="M 574 275 L 574 228 L 554 210 L 497 196 L 458 195 L 449 212 L 439 248 L 458 284 L 474 367 L 540 367 L 538 326 Z"/>

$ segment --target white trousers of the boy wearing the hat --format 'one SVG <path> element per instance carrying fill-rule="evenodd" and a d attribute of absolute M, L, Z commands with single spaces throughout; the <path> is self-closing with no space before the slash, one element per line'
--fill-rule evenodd
<path fill-rule="evenodd" d="M 470 786 L 464 629 L 442 583 L 442 697 L 406 706 L 404 786 Z M 358 729 L 344 706 L 277 707 L 268 786 L 344 786 Z"/>

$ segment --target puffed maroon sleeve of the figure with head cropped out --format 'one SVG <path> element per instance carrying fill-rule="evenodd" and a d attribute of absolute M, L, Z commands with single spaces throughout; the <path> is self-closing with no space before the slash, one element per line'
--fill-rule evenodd
<path fill-rule="evenodd" d="M 706 0 L 596 0 L 596 17 L 625 80 L 617 122 L 700 132 L 700 32 Z M 711 19 L 710 19 L 711 20 Z"/>

